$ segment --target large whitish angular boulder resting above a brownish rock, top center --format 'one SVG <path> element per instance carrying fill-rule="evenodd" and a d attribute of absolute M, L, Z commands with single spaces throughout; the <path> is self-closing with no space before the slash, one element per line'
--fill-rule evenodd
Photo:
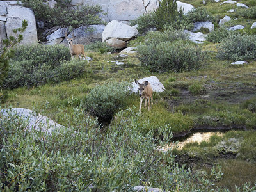
<path fill-rule="evenodd" d="M 105 42 L 109 38 L 118 38 L 119 40 L 127 41 L 138 35 L 138 33 L 136 28 L 132 28 L 117 20 L 112 20 L 106 25 L 102 33 L 102 42 Z"/>

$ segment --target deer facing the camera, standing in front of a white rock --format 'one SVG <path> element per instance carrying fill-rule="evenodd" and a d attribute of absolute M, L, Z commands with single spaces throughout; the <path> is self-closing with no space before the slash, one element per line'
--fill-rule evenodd
<path fill-rule="evenodd" d="M 147 106 L 147 101 L 148 101 L 148 111 L 150 111 L 150 99 L 151 99 L 151 105 L 153 105 L 153 89 L 151 84 L 148 81 L 144 81 L 143 83 L 140 83 L 136 79 L 134 80 L 135 80 L 135 83 L 138 84 L 139 86 L 139 95 L 140 95 L 139 112 L 141 113 L 141 104 L 143 102 L 143 99 L 145 99 L 145 105 L 144 105 L 145 108 Z"/>

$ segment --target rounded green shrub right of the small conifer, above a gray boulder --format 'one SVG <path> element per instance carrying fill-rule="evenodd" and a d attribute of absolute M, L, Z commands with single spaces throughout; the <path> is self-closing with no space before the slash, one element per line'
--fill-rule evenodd
<path fill-rule="evenodd" d="M 216 22 L 216 19 L 211 15 L 211 13 L 205 8 L 196 8 L 191 10 L 186 14 L 186 19 L 188 22 L 194 23 L 194 22 L 200 22 L 200 21 L 211 21 Z"/>

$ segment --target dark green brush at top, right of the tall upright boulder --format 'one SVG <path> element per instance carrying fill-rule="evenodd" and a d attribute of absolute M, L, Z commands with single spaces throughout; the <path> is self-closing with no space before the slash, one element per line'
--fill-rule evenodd
<path fill-rule="evenodd" d="M 42 20 L 45 28 L 53 26 L 72 26 L 73 28 L 78 28 L 81 25 L 88 26 L 101 23 L 98 14 L 101 12 L 100 6 L 83 6 L 76 10 L 70 9 L 68 2 L 61 3 L 60 1 L 54 8 L 50 8 L 44 0 L 22 0 L 22 6 L 32 8 L 36 19 Z"/>

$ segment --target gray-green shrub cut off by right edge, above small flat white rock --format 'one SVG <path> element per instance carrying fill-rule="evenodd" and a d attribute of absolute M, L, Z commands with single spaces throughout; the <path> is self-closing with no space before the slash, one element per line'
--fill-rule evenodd
<path fill-rule="evenodd" d="M 256 60 L 256 35 L 234 35 L 217 47 L 221 60 Z"/>

